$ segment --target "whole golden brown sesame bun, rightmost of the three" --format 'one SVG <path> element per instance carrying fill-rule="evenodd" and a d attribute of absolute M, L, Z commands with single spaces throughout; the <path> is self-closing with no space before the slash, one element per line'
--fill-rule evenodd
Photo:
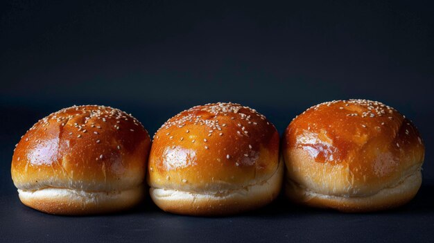
<path fill-rule="evenodd" d="M 401 206 L 419 190 L 424 151 L 413 123 L 381 102 L 325 102 L 284 132 L 286 195 L 345 212 Z"/>

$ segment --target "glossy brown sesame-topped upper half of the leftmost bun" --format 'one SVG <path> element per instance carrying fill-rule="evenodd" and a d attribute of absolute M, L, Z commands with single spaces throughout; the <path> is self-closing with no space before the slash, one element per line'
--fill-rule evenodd
<path fill-rule="evenodd" d="M 143 183 L 150 138 L 138 120 L 97 105 L 61 109 L 22 136 L 12 157 L 21 190 L 128 190 Z"/>

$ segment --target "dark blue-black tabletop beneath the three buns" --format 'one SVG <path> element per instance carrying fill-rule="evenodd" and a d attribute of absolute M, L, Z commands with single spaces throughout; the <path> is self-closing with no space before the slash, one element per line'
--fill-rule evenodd
<path fill-rule="evenodd" d="M 162 213 L 150 202 L 119 215 L 45 215 L 1 197 L 2 242 L 432 242 L 432 186 L 399 210 L 343 214 L 297 208 L 284 199 L 234 217 Z"/>

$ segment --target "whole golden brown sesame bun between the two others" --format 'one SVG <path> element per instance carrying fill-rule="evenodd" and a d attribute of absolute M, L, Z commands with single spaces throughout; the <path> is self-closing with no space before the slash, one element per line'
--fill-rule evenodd
<path fill-rule="evenodd" d="M 282 172 L 274 125 L 249 107 L 216 103 L 182 111 L 157 131 L 148 183 L 163 210 L 225 215 L 272 201 Z"/>

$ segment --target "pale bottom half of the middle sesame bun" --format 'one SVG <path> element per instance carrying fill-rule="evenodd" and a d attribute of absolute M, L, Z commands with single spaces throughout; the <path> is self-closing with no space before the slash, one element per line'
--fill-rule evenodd
<path fill-rule="evenodd" d="M 150 188 L 150 197 L 159 208 L 181 215 L 223 216 L 241 213 L 266 206 L 281 190 L 284 163 L 279 161 L 272 177 L 261 183 L 236 190 L 210 193 L 185 192 Z"/>

